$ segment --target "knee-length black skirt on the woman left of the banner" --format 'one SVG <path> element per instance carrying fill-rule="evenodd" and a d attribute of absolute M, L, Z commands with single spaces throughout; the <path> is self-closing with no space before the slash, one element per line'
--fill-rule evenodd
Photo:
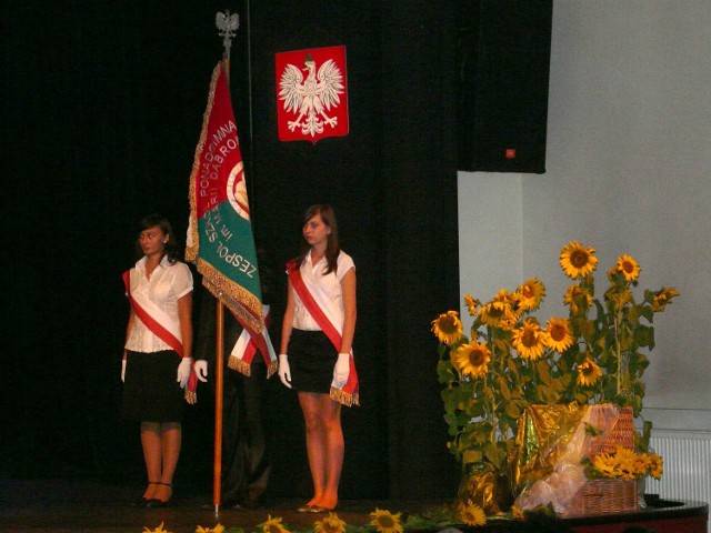
<path fill-rule="evenodd" d="M 179 364 L 173 350 L 129 351 L 121 415 L 141 422 L 180 422 L 186 391 L 176 381 Z"/>

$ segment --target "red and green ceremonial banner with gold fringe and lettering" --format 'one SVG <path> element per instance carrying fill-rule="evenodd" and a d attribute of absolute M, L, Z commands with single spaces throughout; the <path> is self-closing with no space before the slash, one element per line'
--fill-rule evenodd
<path fill-rule="evenodd" d="M 190 175 L 186 259 L 203 285 L 256 333 L 264 329 L 244 164 L 222 63 L 212 71 Z"/>

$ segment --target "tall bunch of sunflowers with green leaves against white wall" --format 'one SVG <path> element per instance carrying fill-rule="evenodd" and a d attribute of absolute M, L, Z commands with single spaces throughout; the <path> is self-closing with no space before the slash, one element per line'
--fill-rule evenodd
<path fill-rule="evenodd" d="M 487 303 L 467 294 L 469 334 L 457 311 L 432 321 L 448 447 L 463 465 L 485 462 L 500 471 L 514 446 L 517 421 L 532 404 L 613 403 L 640 414 L 653 315 L 679 292 L 645 290 L 638 301 L 641 268 L 629 254 L 608 272 L 604 292 L 595 292 L 598 258 L 580 242 L 564 245 L 559 263 L 572 280 L 563 296 L 568 316 L 543 322 L 534 315 L 547 294 L 543 282 L 530 278 Z M 643 440 L 650 430 L 645 422 Z"/>

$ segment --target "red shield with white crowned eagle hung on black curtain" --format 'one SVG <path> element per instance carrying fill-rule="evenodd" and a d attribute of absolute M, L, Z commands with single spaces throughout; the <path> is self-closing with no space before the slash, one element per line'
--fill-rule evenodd
<path fill-rule="evenodd" d="M 346 47 L 280 52 L 276 66 L 281 141 L 348 134 Z"/>

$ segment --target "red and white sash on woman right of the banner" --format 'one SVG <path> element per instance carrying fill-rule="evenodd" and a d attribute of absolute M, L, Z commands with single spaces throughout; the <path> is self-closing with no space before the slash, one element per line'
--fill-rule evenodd
<path fill-rule="evenodd" d="M 312 276 L 304 278 L 296 263 L 287 264 L 289 280 L 294 292 L 301 299 L 307 311 L 313 318 L 319 328 L 326 333 L 337 351 L 341 350 L 341 339 L 343 332 L 342 321 L 336 320 L 336 310 L 332 309 L 328 298 L 321 292 L 318 283 Z M 331 398 L 343 405 L 359 405 L 358 373 L 356 372 L 356 360 L 351 349 L 349 358 L 350 372 L 344 385 L 338 386 L 336 380 L 331 382 Z"/>

